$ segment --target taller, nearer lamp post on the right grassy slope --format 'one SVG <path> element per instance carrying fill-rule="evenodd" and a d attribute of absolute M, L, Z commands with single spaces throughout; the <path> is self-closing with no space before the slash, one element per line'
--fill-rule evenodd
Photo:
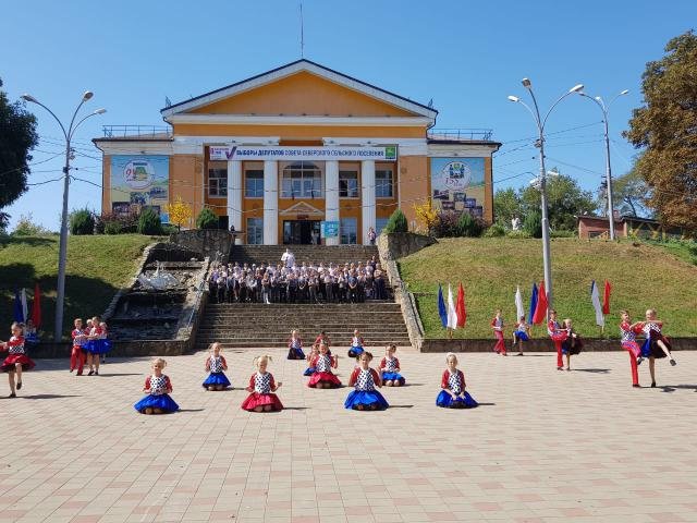
<path fill-rule="evenodd" d="M 528 112 L 533 115 L 535 123 L 537 125 L 538 138 L 536 146 L 540 148 L 540 175 L 539 175 L 539 185 L 540 185 L 540 207 L 542 211 L 542 263 L 545 266 L 545 290 L 547 291 L 547 303 L 548 308 L 553 308 L 553 295 L 552 295 L 552 259 L 550 252 L 550 238 L 549 238 L 549 216 L 547 209 L 547 169 L 545 168 L 545 124 L 547 123 L 547 119 L 549 118 L 552 109 L 557 107 L 557 105 L 566 98 L 568 95 L 573 93 L 580 92 L 584 86 L 583 84 L 577 84 L 564 93 L 559 99 L 552 104 L 552 107 L 549 108 L 545 118 L 540 117 L 540 110 L 537 105 L 537 99 L 535 98 L 535 93 L 533 92 L 533 83 L 529 78 L 523 78 L 521 81 L 523 87 L 525 87 L 530 94 L 530 98 L 533 99 L 533 107 L 535 107 L 535 111 L 530 109 L 530 107 L 525 104 L 517 96 L 509 96 L 509 100 L 514 101 L 516 104 L 521 104 L 525 107 Z"/>

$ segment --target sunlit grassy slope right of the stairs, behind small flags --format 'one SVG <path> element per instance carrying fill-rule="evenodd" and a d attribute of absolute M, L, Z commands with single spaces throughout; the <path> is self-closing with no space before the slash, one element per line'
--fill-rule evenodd
<path fill-rule="evenodd" d="M 554 308 L 560 318 L 571 317 L 586 337 L 600 336 L 590 303 L 590 281 L 608 279 L 613 285 L 611 314 L 606 317 L 606 336 L 617 338 L 620 309 L 640 319 L 648 307 L 658 309 L 668 336 L 697 336 L 697 266 L 684 253 L 632 242 L 587 242 L 577 239 L 552 241 Z M 682 258 L 682 259 L 681 259 Z M 529 304 L 533 281 L 542 277 L 540 240 L 443 239 L 439 243 L 400 259 L 402 278 L 414 292 L 427 338 L 447 336 L 438 316 L 438 283 L 465 288 L 467 325 L 456 338 L 492 338 L 489 323 L 494 309 L 503 311 L 506 337 L 515 321 L 514 294 L 521 285 L 523 302 Z M 542 336 L 536 327 L 534 335 Z"/>

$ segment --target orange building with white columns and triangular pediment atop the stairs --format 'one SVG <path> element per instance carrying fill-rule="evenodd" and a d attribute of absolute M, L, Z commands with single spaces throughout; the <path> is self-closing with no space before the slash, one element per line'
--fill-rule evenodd
<path fill-rule="evenodd" d="M 438 111 L 298 60 L 168 105 L 168 126 L 106 126 L 102 212 L 181 198 L 239 243 L 368 243 L 428 198 L 492 221 L 491 132 L 435 131 Z"/>

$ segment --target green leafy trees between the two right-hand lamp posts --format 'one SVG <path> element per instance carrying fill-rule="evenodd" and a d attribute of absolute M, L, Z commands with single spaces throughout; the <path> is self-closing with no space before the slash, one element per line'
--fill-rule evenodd
<path fill-rule="evenodd" d="M 540 208 L 540 192 L 528 185 L 521 191 L 524 215 Z M 580 188 L 576 180 L 565 174 L 547 179 L 547 208 L 550 228 L 572 231 L 576 229 L 576 217 L 592 214 L 597 208 L 590 191 Z"/>

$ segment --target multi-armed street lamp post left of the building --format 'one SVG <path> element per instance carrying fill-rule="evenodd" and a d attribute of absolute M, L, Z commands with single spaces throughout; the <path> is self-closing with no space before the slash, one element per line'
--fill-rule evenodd
<path fill-rule="evenodd" d="M 68 130 L 65 130 L 65 126 L 53 113 L 53 111 L 38 101 L 32 95 L 22 95 L 23 100 L 36 104 L 46 109 L 51 114 L 51 117 L 56 119 L 61 127 L 61 131 L 63 131 L 63 136 L 65 136 L 65 166 L 63 167 L 63 211 L 61 214 L 61 239 L 58 254 L 58 284 L 56 285 L 56 327 L 53 331 L 53 340 L 57 342 L 61 340 L 63 333 L 63 304 L 65 302 L 65 263 L 68 258 L 68 193 L 70 190 L 70 157 L 72 154 L 70 143 L 73 139 L 75 131 L 85 120 L 87 120 L 89 117 L 95 117 L 97 114 L 103 114 L 105 112 L 107 112 L 106 109 L 97 109 L 96 111 L 90 112 L 77 123 L 75 123 L 75 118 L 77 117 L 77 112 L 80 111 L 81 107 L 83 107 L 83 104 L 89 100 L 93 96 L 94 94 L 90 90 L 85 92 L 85 94 L 83 95 L 83 99 L 80 101 L 80 105 L 75 109 L 75 112 L 73 112 L 73 118 L 70 121 Z"/>

